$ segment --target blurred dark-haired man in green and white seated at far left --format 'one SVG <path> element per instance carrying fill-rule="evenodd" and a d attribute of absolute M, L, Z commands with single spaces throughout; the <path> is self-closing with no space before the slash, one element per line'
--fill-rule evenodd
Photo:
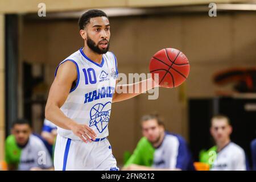
<path fill-rule="evenodd" d="M 17 119 L 11 133 L 5 142 L 5 160 L 9 170 L 53 169 L 46 146 L 40 138 L 31 134 L 28 121 Z"/>

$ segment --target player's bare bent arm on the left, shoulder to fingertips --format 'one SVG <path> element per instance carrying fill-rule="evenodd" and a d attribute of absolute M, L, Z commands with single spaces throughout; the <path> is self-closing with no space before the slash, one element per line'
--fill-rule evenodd
<path fill-rule="evenodd" d="M 72 119 L 65 116 L 60 110 L 68 97 L 69 91 L 72 88 L 72 83 L 77 79 L 76 66 L 71 61 L 67 61 L 60 65 L 55 80 L 49 90 L 49 96 L 46 104 L 46 118 L 55 125 L 72 130 L 73 133 L 87 143 L 92 142 L 96 138 L 96 134 L 90 127 L 79 125 Z"/>

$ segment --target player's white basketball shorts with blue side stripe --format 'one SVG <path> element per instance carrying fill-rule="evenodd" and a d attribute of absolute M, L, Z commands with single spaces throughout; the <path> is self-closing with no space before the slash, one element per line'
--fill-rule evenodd
<path fill-rule="evenodd" d="M 54 167 L 56 171 L 117 171 L 108 138 L 85 143 L 57 135 Z"/>

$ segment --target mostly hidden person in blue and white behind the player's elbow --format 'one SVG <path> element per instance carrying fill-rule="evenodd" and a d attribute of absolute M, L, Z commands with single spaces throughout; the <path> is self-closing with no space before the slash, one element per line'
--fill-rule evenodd
<path fill-rule="evenodd" d="M 46 140 L 46 147 L 51 156 L 53 155 L 53 148 L 57 136 L 57 127 L 51 121 L 44 119 L 41 137 Z"/>

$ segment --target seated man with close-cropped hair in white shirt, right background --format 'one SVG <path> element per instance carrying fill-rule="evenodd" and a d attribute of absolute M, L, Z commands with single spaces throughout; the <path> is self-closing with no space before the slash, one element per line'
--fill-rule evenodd
<path fill-rule="evenodd" d="M 217 115 L 212 118 L 210 134 L 216 143 L 216 155 L 209 158 L 212 171 L 244 171 L 246 170 L 245 151 L 231 142 L 232 126 L 229 118 Z"/>

